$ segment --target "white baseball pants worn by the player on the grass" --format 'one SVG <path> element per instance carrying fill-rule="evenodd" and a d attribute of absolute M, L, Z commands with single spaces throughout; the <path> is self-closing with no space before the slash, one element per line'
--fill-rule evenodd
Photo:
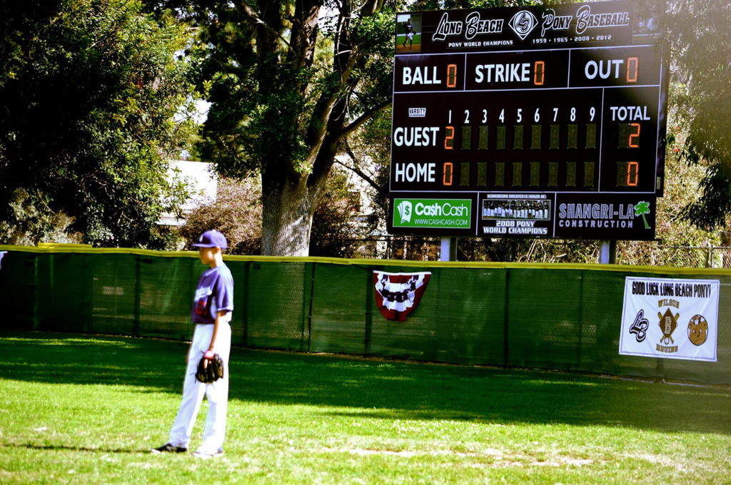
<path fill-rule="evenodd" d="M 198 410 L 203 402 L 203 394 L 208 398 L 208 415 L 205 418 L 203 443 L 199 451 L 214 452 L 223 448 L 226 438 L 226 412 L 228 408 L 229 355 L 231 353 L 231 326 L 221 322 L 213 351 L 224 361 L 224 377 L 205 384 L 197 381 L 195 372 L 198 361 L 208 351 L 213 336 L 213 325 L 197 324 L 188 356 L 185 381 L 183 381 L 183 400 L 178 416 L 170 429 L 170 440 L 175 446 L 188 448 Z"/>

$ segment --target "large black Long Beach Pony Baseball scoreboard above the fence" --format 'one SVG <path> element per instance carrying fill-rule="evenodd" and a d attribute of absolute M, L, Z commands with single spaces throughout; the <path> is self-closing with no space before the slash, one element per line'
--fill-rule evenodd
<path fill-rule="evenodd" d="M 654 24 L 629 1 L 397 14 L 389 231 L 654 239 Z"/>

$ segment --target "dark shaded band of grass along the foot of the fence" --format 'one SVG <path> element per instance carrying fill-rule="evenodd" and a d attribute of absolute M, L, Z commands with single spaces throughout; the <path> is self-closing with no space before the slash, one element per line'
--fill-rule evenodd
<path fill-rule="evenodd" d="M 137 386 L 141 392 L 180 395 L 186 351 L 187 344 L 180 342 L 0 332 L 0 378 Z M 731 435 L 727 388 L 242 348 L 232 349 L 230 367 L 232 404 L 311 405 L 319 417 L 599 425 Z"/>

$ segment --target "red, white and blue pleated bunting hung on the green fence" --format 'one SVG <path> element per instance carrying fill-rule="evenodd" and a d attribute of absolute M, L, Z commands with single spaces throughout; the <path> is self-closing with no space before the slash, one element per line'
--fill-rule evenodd
<path fill-rule="evenodd" d="M 376 306 L 387 320 L 405 321 L 419 305 L 431 272 L 389 273 L 373 272 Z"/>

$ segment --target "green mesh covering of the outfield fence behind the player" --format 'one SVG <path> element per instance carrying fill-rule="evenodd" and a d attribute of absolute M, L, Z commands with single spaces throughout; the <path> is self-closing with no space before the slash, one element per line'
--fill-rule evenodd
<path fill-rule="evenodd" d="M 205 270 L 194 253 L 0 251 L 9 251 L 0 269 L 0 329 L 192 335 L 190 305 Z M 618 354 L 626 276 L 658 276 L 641 268 L 226 262 L 238 345 L 731 384 L 731 275 L 724 270 L 668 269 L 669 278 L 721 281 L 718 362 L 697 362 Z M 388 321 L 376 308 L 374 270 L 431 272 L 406 321 Z"/>

